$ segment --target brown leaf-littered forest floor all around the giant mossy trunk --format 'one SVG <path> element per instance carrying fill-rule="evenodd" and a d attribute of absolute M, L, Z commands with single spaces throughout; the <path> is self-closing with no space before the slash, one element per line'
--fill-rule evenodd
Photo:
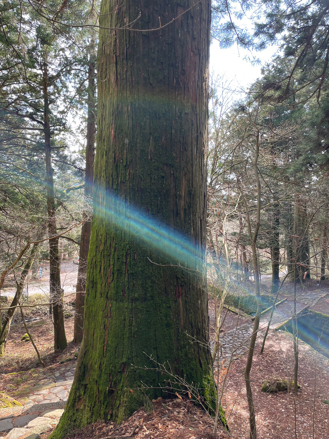
<path fill-rule="evenodd" d="M 266 284 L 263 285 L 266 288 Z M 325 288 L 323 285 L 320 288 Z M 285 290 L 289 295 L 289 288 Z M 65 300 L 65 329 L 68 341 L 73 338 L 73 298 L 68 295 Z M 328 305 L 328 296 L 324 297 L 320 308 Z M 320 303 L 320 302 L 319 302 Z M 23 416 L 30 416 L 31 421 L 48 419 L 47 427 L 26 428 L 20 437 L 26 437 L 31 432 L 38 432 L 46 439 L 57 424 L 57 419 L 49 420 L 44 411 L 64 408 L 74 374 L 78 346 L 69 343 L 64 352 L 53 353 L 52 323 L 45 316 L 46 307 L 39 313 L 39 320 L 29 323 L 40 354 L 46 363 L 46 368 L 38 365 L 36 354 L 30 342 L 22 341 L 24 327 L 16 322 L 11 328 L 8 338 L 6 355 L 0 359 L 0 391 L 14 397 L 24 407 L 16 409 L 0 409 L 1 417 L 7 417 L 8 425 L 16 427 L 23 425 Z M 211 333 L 215 309 L 214 301 L 209 300 Z M 145 413 L 143 408 L 138 410 L 127 421 L 117 426 L 113 423 L 97 422 L 80 432 L 73 432 L 72 439 L 91 438 L 173 438 L 173 439 L 215 439 L 232 437 L 245 439 L 249 437 L 248 407 L 246 390 L 243 381 L 243 367 L 246 355 L 250 328 L 253 322 L 250 318 L 237 316 L 228 312 L 222 326 L 222 354 L 216 366 L 216 378 L 224 384 L 222 406 L 225 410 L 230 428 L 228 435 L 218 428 L 212 435 L 213 419 L 200 408 L 186 399 L 154 401 L 154 411 Z M 329 437 L 329 359 L 316 353 L 306 343 L 299 344 L 299 384 L 298 394 L 279 392 L 267 394 L 261 392 L 261 385 L 271 378 L 287 378 L 293 376 L 293 340 L 290 334 L 283 331 L 270 330 L 265 351 L 260 354 L 263 330 L 260 331 L 251 370 L 252 389 L 257 417 L 258 439 L 297 438 L 325 439 Z M 226 370 L 223 359 L 231 356 L 232 345 L 240 338 L 240 345 L 233 349 L 232 365 Z M 228 357 L 229 355 L 229 357 Z M 12 411 L 10 414 L 9 411 Z M 56 410 L 55 410 L 56 411 Z M 14 413 L 13 413 L 14 412 Z M 8 418 L 8 416 L 11 416 Z M 50 416 L 50 415 L 49 415 Z M 29 418 L 30 419 L 30 418 Z M 24 418 L 25 421 L 25 418 Z M 42 422 L 42 421 L 41 421 Z M 46 421 L 44 421 L 46 422 Z M 46 428 L 46 431 L 45 431 Z M 9 430 L 9 428 L 8 428 Z M 43 430 L 43 432 L 42 432 Z M 0 437 L 6 432 L 0 431 Z M 10 435 L 8 436 L 10 438 Z M 12 438 L 11 438 L 12 439 Z"/>

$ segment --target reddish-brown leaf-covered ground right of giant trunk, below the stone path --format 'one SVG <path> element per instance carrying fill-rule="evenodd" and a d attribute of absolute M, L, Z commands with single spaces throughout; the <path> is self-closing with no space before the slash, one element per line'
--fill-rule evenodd
<path fill-rule="evenodd" d="M 329 360 L 300 342 L 298 383 L 300 392 L 261 392 L 261 385 L 271 378 L 293 378 L 293 340 L 284 332 L 271 332 L 263 354 L 257 340 L 251 370 L 252 389 L 259 438 L 329 437 Z M 248 407 L 243 381 L 246 356 L 237 359 L 225 382 L 223 407 L 232 438 L 247 438 Z M 295 417 L 296 416 L 296 417 Z"/>

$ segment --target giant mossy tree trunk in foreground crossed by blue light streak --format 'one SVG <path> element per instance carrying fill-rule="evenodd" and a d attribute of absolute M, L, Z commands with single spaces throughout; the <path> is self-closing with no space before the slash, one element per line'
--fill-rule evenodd
<path fill-rule="evenodd" d="M 163 29 L 100 32 L 84 335 L 53 438 L 121 421 L 144 393 L 170 397 L 192 382 L 214 408 L 204 263 L 211 10 L 193 4 L 102 3 L 101 28 Z"/>

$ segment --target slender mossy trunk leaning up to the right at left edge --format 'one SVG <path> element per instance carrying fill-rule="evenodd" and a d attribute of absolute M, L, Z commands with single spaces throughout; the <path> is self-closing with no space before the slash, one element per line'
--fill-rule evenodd
<path fill-rule="evenodd" d="M 26 277 L 28 276 L 29 270 L 32 267 L 38 246 L 39 246 L 38 244 L 33 244 L 33 246 L 32 246 L 31 253 L 30 253 L 27 261 L 25 262 L 23 271 L 21 272 L 20 280 L 19 280 L 19 282 L 17 282 L 17 287 L 16 287 L 16 292 L 15 292 L 14 298 L 11 302 L 9 309 L 7 310 L 3 325 L 2 325 L 2 327 L 0 327 L 0 356 L 4 355 L 4 353 L 5 353 L 5 347 L 7 344 L 7 338 L 8 338 L 8 334 L 9 334 L 9 330 L 10 330 L 11 321 L 14 317 L 14 313 L 15 313 L 15 310 L 18 306 L 18 302 L 21 299 L 21 295 L 22 295 L 24 285 L 26 282 Z"/>

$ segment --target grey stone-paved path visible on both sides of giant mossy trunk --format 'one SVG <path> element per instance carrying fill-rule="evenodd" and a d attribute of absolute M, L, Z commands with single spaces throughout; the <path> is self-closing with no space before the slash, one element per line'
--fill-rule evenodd
<path fill-rule="evenodd" d="M 299 293 L 297 311 L 314 306 L 328 294 L 328 288 Z M 291 317 L 292 307 L 291 300 L 288 300 L 275 310 L 271 329 L 275 329 Z M 261 317 L 260 337 L 267 327 L 269 316 L 270 313 L 266 313 Z M 224 359 L 224 362 L 228 363 L 231 356 L 232 360 L 236 360 L 247 352 L 253 327 L 254 322 L 250 320 L 220 334 L 220 361 Z M 25 438 L 31 433 L 35 436 L 30 439 L 38 439 L 37 434 L 53 428 L 64 411 L 74 378 L 75 365 L 76 359 L 68 362 L 64 360 L 59 367 L 50 366 L 43 369 L 37 374 L 34 385 L 24 389 L 22 394 L 28 398 L 24 407 L 0 409 L 0 439 Z M 2 436 L 4 434 L 5 438 Z"/>

